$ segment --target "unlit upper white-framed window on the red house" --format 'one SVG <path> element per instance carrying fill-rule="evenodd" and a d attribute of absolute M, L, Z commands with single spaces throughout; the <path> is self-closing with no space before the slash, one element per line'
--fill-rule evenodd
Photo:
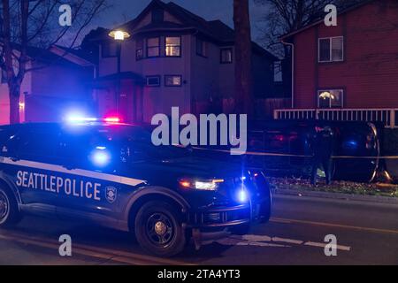
<path fill-rule="evenodd" d="M 318 40 L 318 62 L 341 62 L 344 60 L 344 37 L 325 37 Z"/>

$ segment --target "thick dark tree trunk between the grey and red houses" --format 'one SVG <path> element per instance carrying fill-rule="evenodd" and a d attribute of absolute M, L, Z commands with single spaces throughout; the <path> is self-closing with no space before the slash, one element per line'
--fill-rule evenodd
<path fill-rule="evenodd" d="M 249 0 L 233 0 L 235 28 L 235 112 L 254 118 Z"/>

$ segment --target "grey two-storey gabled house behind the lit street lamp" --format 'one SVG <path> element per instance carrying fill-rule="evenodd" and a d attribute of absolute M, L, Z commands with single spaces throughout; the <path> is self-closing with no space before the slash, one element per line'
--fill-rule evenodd
<path fill-rule="evenodd" d="M 102 116 L 117 113 L 127 122 L 149 122 L 157 113 L 223 111 L 234 95 L 234 31 L 172 2 L 152 1 L 120 27 L 130 38 L 120 43 L 95 39 L 99 48 L 94 97 Z M 273 96 L 277 57 L 255 42 L 253 88 L 256 97 Z M 119 62 L 119 64 L 118 64 Z"/>

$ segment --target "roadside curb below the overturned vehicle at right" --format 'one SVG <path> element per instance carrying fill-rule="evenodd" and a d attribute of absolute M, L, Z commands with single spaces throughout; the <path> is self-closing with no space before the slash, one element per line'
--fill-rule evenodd
<path fill-rule="evenodd" d="M 334 200 L 345 200 L 345 201 L 358 201 L 368 203 L 392 203 L 398 204 L 397 197 L 379 196 L 379 195 L 348 195 L 341 193 L 327 193 L 327 192 L 312 192 L 305 190 L 294 190 L 294 189 L 274 189 L 275 195 L 295 195 L 295 196 L 311 196 L 319 198 L 327 198 Z"/>

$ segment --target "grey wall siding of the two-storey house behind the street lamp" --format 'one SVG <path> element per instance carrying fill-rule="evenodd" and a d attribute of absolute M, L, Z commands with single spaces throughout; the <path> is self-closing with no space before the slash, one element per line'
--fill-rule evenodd
<path fill-rule="evenodd" d="M 159 3 L 152 2 L 152 4 Z M 140 117 L 142 117 L 143 122 L 148 123 L 155 114 L 165 113 L 166 115 L 171 115 L 173 106 L 180 108 L 180 115 L 184 113 L 200 114 L 222 111 L 223 98 L 233 97 L 234 95 L 234 62 L 232 64 L 221 64 L 220 50 L 224 47 L 233 49 L 233 44 L 224 46 L 229 44 L 229 41 L 219 42 L 214 36 L 201 32 L 195 25 L 192 26 L 192 23 L 183 17 L 179 17 L 179 13 L 169 13 L 166 10 L 164 12 L 164 20 L 167 25 L 172 22 L 182 26 L 171 25 L 171 27 L 168 27 L 165 25 L 165 28 L 157 26 L 158 23 L 151 22 L 151 10 L 146 9 L 137 18 L 140 19 L 140 22 L 134 23 L 134 27 L 129 30 L 132 37 L 122 43 L 120 60 L 120 71 L 122 73 L 135 73 L 137 76 L 141 76 L 143 80 L 147 76 L 158 76 L 161 80 L 161 85 L 158 87 L 143 86 L 142 106 L 139 105 L 143 113 Z M 192 15 L 188 14 L 189 17 L 192 17 Z M 153 26 L 146 28 L 150 24 L 153 24 Z M 140 30 L 140 27 L 143 28 Z M 154 36 L 160 36 L 160 56 L 150 58 L 144 56 L 142 59 L 137 60 L 137 40 L 143 40 L 143 53 L 145 54 L 146 39 Z M 180 57 L 165 57 L 165 36 L 180 36 L 182 44 Z M 207 44 L 206 57 L 196 53 L 196 36 L 199 36 Z M 100 49 L 101 43 L 103 42 L 99 42 Z M 117 73 L 118 58 L 102 57 L 101 50 L 99 54 L 99 77 Z M 273 77 L 270 68 L 272 60 L 272 55 L 265 51 L 253 57 L 255 62 L 254 69 L 256 70 L 255 88 L 259 89 L 259 96 L 272 93 Z M 182 77 L 182 85 L 180 87 L 165 86 L 165 75 L 180 75 Z M 107 86 L 106 89 L 96 90 L 96 100 L 104 99 L 103 96 L 116 96 L 116 91 L 111 88 L 111 86 Z M 134 91 L 129 91 L 128 89 L 120 95 L 136 96 Z M 108 101 L 108 104 L 112 104 L 109 99 Z M 101 109 L 109 109 L 111 107 L 105 106 L 104 103 L 102 105 L 99 110 L 100 115 L 103 111 Z M 127 111 L 136 111 L 134 105 L 126 105 L 126 107 Z M 127 121 L 130 120 L 127 119 Z"/>

